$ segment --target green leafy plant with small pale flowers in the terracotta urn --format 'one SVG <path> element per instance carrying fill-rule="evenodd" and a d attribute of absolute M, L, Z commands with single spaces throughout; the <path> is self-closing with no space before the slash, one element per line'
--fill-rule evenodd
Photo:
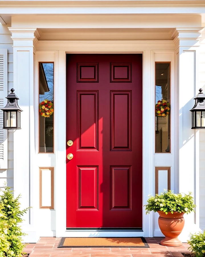
<path fill-rule="evenodd" d="M 147 200 L 145 205 L 146 214 L 151 212 L 163 211 L 166 214 L 168 212 L 184 212 L 190 213 L 194 210 L 194 201 L 191 195 L 189 194 L 174 194 L 171 190 L 163 192 L 160 195 L 155 194 Z"/>

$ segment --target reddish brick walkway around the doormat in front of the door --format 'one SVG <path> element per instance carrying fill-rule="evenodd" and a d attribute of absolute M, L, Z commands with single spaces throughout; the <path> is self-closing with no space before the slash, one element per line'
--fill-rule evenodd
<path fill-rule="evenodd" d="M 168 247 L 159 245 L 160 237 L 146 238 L 150 248 L 57 248 L 60 238 L 41 237 L 36 244 L 28 244 L 24 252 L 29 257 L 182 257 L 188 244 Z"/>

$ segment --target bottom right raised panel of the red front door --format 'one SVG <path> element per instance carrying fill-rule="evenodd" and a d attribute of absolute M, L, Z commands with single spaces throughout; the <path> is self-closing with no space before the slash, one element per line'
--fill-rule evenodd
<path fill-rule="evenodd" d="M 111 210 L 131 210 L 131 166 L 111 167 Z"/>

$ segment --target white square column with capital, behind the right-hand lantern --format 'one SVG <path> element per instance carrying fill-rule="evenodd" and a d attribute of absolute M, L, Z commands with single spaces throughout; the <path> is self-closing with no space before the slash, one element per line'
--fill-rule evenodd
<path fill-rule="evenodd" d="M 190 109 L 194 105 L 198 85 L 198 49 L 199 39 L 203 28 L 177 28 L 175 33 L 176 45 L 176 95 L 179 106 L 177 110 L 178 135 L 176 146 L 177 191 L 192 192 L 196 204 L 195 212 L 185 214 L 185 228 L 180 239 L 185 242 L 190 232 L 198 232 L 199 228 L 199 131 L 191 129 L 192 118 Z"/>

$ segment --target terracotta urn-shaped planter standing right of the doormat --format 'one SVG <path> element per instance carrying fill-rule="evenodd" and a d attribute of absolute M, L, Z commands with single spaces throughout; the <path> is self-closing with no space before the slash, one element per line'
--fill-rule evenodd
<path fill-rule="evenodd" d="M 160 244 L 165 246 L 181 246 L 182 242 L 178 236 L 182 232 L 185 220 L 184 213 L 168 212 L 165 214 L 163 211 L 157 211 L 159 213 L 159 228 L 165 235 L 165 238 L 161 240 Z"/>

